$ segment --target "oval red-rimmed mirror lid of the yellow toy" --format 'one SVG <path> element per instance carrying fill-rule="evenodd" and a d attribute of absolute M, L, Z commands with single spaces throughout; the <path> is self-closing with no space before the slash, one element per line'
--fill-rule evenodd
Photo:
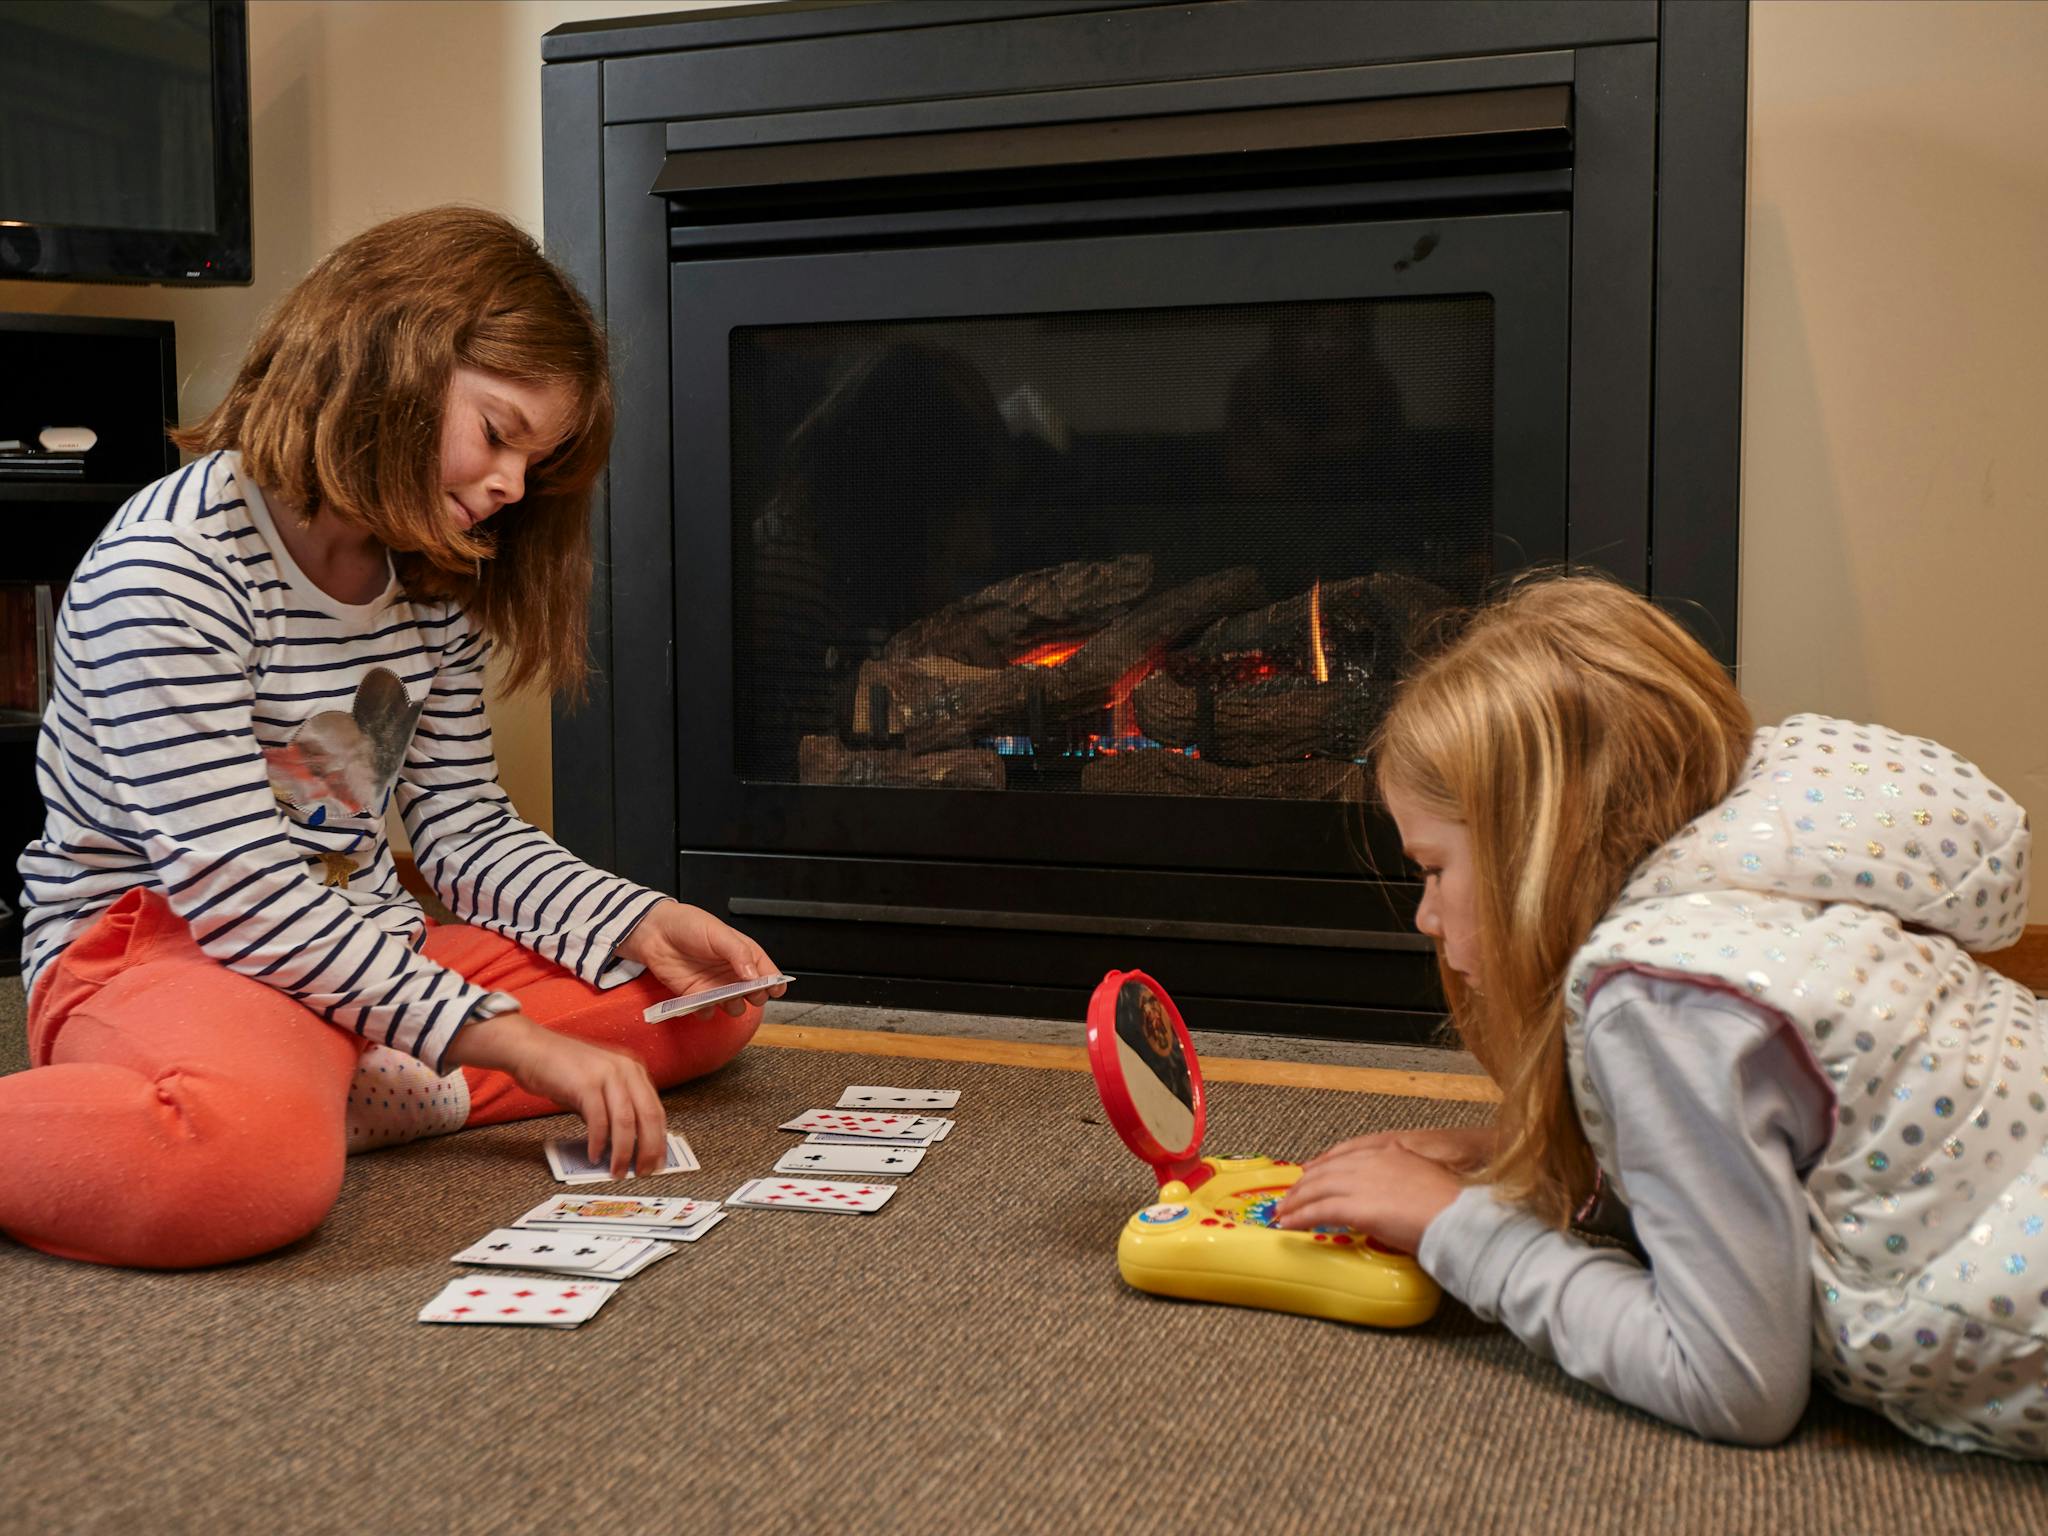
<path fill-rule="evenodd" d="M 1143 971 L 1110 971 L 1087 1001 L 1087 1065 L 1110 1126 L 1151 1163 L 1159 1184 L 1200 1186 L 1202 1067 L 1165 987 Z"/>

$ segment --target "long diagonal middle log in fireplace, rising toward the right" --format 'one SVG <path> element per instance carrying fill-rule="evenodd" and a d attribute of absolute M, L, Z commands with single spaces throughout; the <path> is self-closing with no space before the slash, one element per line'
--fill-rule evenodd
<path fill-rule="evenodd" d="M 1004 668 L 924 700 L 903 727 L 911 752 L 958 748 L 995 727 L 1014 733 L 1030 719 L 1067 721 L 1102 709 L 1118 682 L 1200 633 L 1219 614 L 1264 596 L 1249 565 L 1214 571 L 1147 598 L 1057 668 Z"/>

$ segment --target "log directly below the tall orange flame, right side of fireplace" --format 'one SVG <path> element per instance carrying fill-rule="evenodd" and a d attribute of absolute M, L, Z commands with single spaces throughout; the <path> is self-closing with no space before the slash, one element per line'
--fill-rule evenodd
<path fill-rule="evenodd" d="M 1384 688 L 1358 678 L 1313 682 L 1270 678 L 1210 694 L 1202 719 L 1202 688 L 1151 674 L 1130 694 L 1141 735 L 1169 748 L 1196 745 L 1210 762 L 1290 762 L 1294 758 L 1356 758 L 1384 705 Z"/>

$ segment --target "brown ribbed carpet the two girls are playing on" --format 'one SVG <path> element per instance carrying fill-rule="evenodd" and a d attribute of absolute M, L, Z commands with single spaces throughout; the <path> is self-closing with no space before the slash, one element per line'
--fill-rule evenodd
<path fill-rule="evenodd" d="M 0 1241 L 0 1528 L 35 1532 L 2044 1530 L 2048 1475 L 1821 1399 L 1692 1440 L 1454 1305 L 1409 1333 L 1137 1294 L 1081 1073 L 756 1047 L 670 1096 L 723 1196 L 846 1083 L 965 1090 L 877 1217 L 735 1212 L 569 1333 L 414 1323 L 567 1120 L 350 1163 L 305 1243 L 121 1274 Z M 1212 1151 L 1466 1106 L 1221 1085 Z"/>

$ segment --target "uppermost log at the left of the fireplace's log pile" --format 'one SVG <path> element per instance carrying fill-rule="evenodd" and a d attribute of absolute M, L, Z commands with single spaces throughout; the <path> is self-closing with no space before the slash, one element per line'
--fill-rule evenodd
<path fill-rule="evenodd" d="M 1034 645 L 1094 635 L 1143 598 L 1151 582 L 1151 555 L 1024 571 L 920 618 L 883 645 L 883 659 L 936 655 L 975 668 L 1008 666 Z"/>

